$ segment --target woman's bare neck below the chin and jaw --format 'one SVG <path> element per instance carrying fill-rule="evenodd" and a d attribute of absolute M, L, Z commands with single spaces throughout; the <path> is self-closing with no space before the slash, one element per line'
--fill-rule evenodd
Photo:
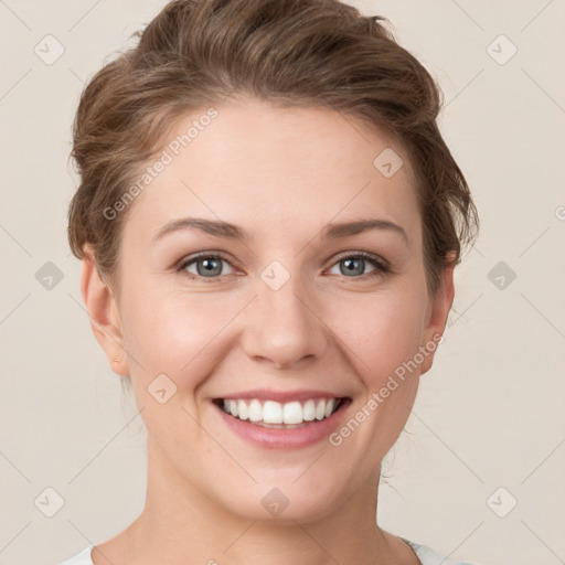
<path fill-rule="evenodd" d="M 329 565 L 411 563 L 407 546 L 376 524 L 379 477 L 348 493 L 330 515 L 316 520 L 257 520 L 212 500 L 163 459 L 148 441 L 148 487 L 142 513 L 127 534 L 125 563 L 138 565 Z M 152 457 L 153 456 L 153 457 Z M 396 559 L 396 561 L 394 561 Z M 413 562 L 413 563 L 418 563 Z"/>

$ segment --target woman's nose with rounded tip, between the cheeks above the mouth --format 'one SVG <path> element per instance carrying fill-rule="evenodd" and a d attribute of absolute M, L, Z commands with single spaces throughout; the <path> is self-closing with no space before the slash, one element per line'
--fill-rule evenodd
<path fill-rule="evenodd" d="M 323 355 L 331 330 L 299 276 L 278 290 L 259 279 L 249 306 L 243 347 L 250 359 L 286 369 Z"/>

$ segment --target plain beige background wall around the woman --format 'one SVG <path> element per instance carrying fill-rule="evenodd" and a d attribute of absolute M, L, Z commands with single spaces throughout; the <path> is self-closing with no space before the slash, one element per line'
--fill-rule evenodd
<path fill-rule="evenodd" d="M 67 156 L 83 82 L 163 4 L 0 1 L 4 565 L 55 564 L 143 504 L 142 423 L 90 334 L 66 244 Z M 380 519 L 455 558 L 565 563 L 565 2 L 356 6 L 390 18 L 439 79 L 441 129 L 482 220 L 411 434 L 387 458 Z M 47 34 L 64 47 L 51 65 L 34 52 L 56 54 Z M 516 275 L 501 271 L 503 288 L 499 262 Z"/>

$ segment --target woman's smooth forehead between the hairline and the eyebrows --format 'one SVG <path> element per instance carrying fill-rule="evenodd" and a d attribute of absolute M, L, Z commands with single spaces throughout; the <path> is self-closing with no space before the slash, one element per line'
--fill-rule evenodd
<path fill-rule="evenodd" d="M 125 236 L 141 230 L 152 237 L 183 216 L 287 238 L 328 222 L 382 217 L 418 238 L 415 179 L 405 149 L 327 108 L 230 98 L 191 111 L 174 121 L 140 179 L 143 173 L 148 182 L 132 203 Z"/>

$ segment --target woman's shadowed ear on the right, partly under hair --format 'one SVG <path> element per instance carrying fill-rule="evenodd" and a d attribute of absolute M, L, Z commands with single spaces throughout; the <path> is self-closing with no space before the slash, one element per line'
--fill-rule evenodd
<path fill-rule="evenodd" d="M 448 256 L 448 266 L 444 268 L 439 276 L 437 292 L 430 300 L 428 321 L 423 332 L 424 341 L 420 343 L 420 352 L 424 354 L 424 361 L 420 364 L 420 375 L 431 369 L 434 355 L 446 329 L 447 317 L 454 303 L 454 259 L 455 254 L 450 254 Z"/>

